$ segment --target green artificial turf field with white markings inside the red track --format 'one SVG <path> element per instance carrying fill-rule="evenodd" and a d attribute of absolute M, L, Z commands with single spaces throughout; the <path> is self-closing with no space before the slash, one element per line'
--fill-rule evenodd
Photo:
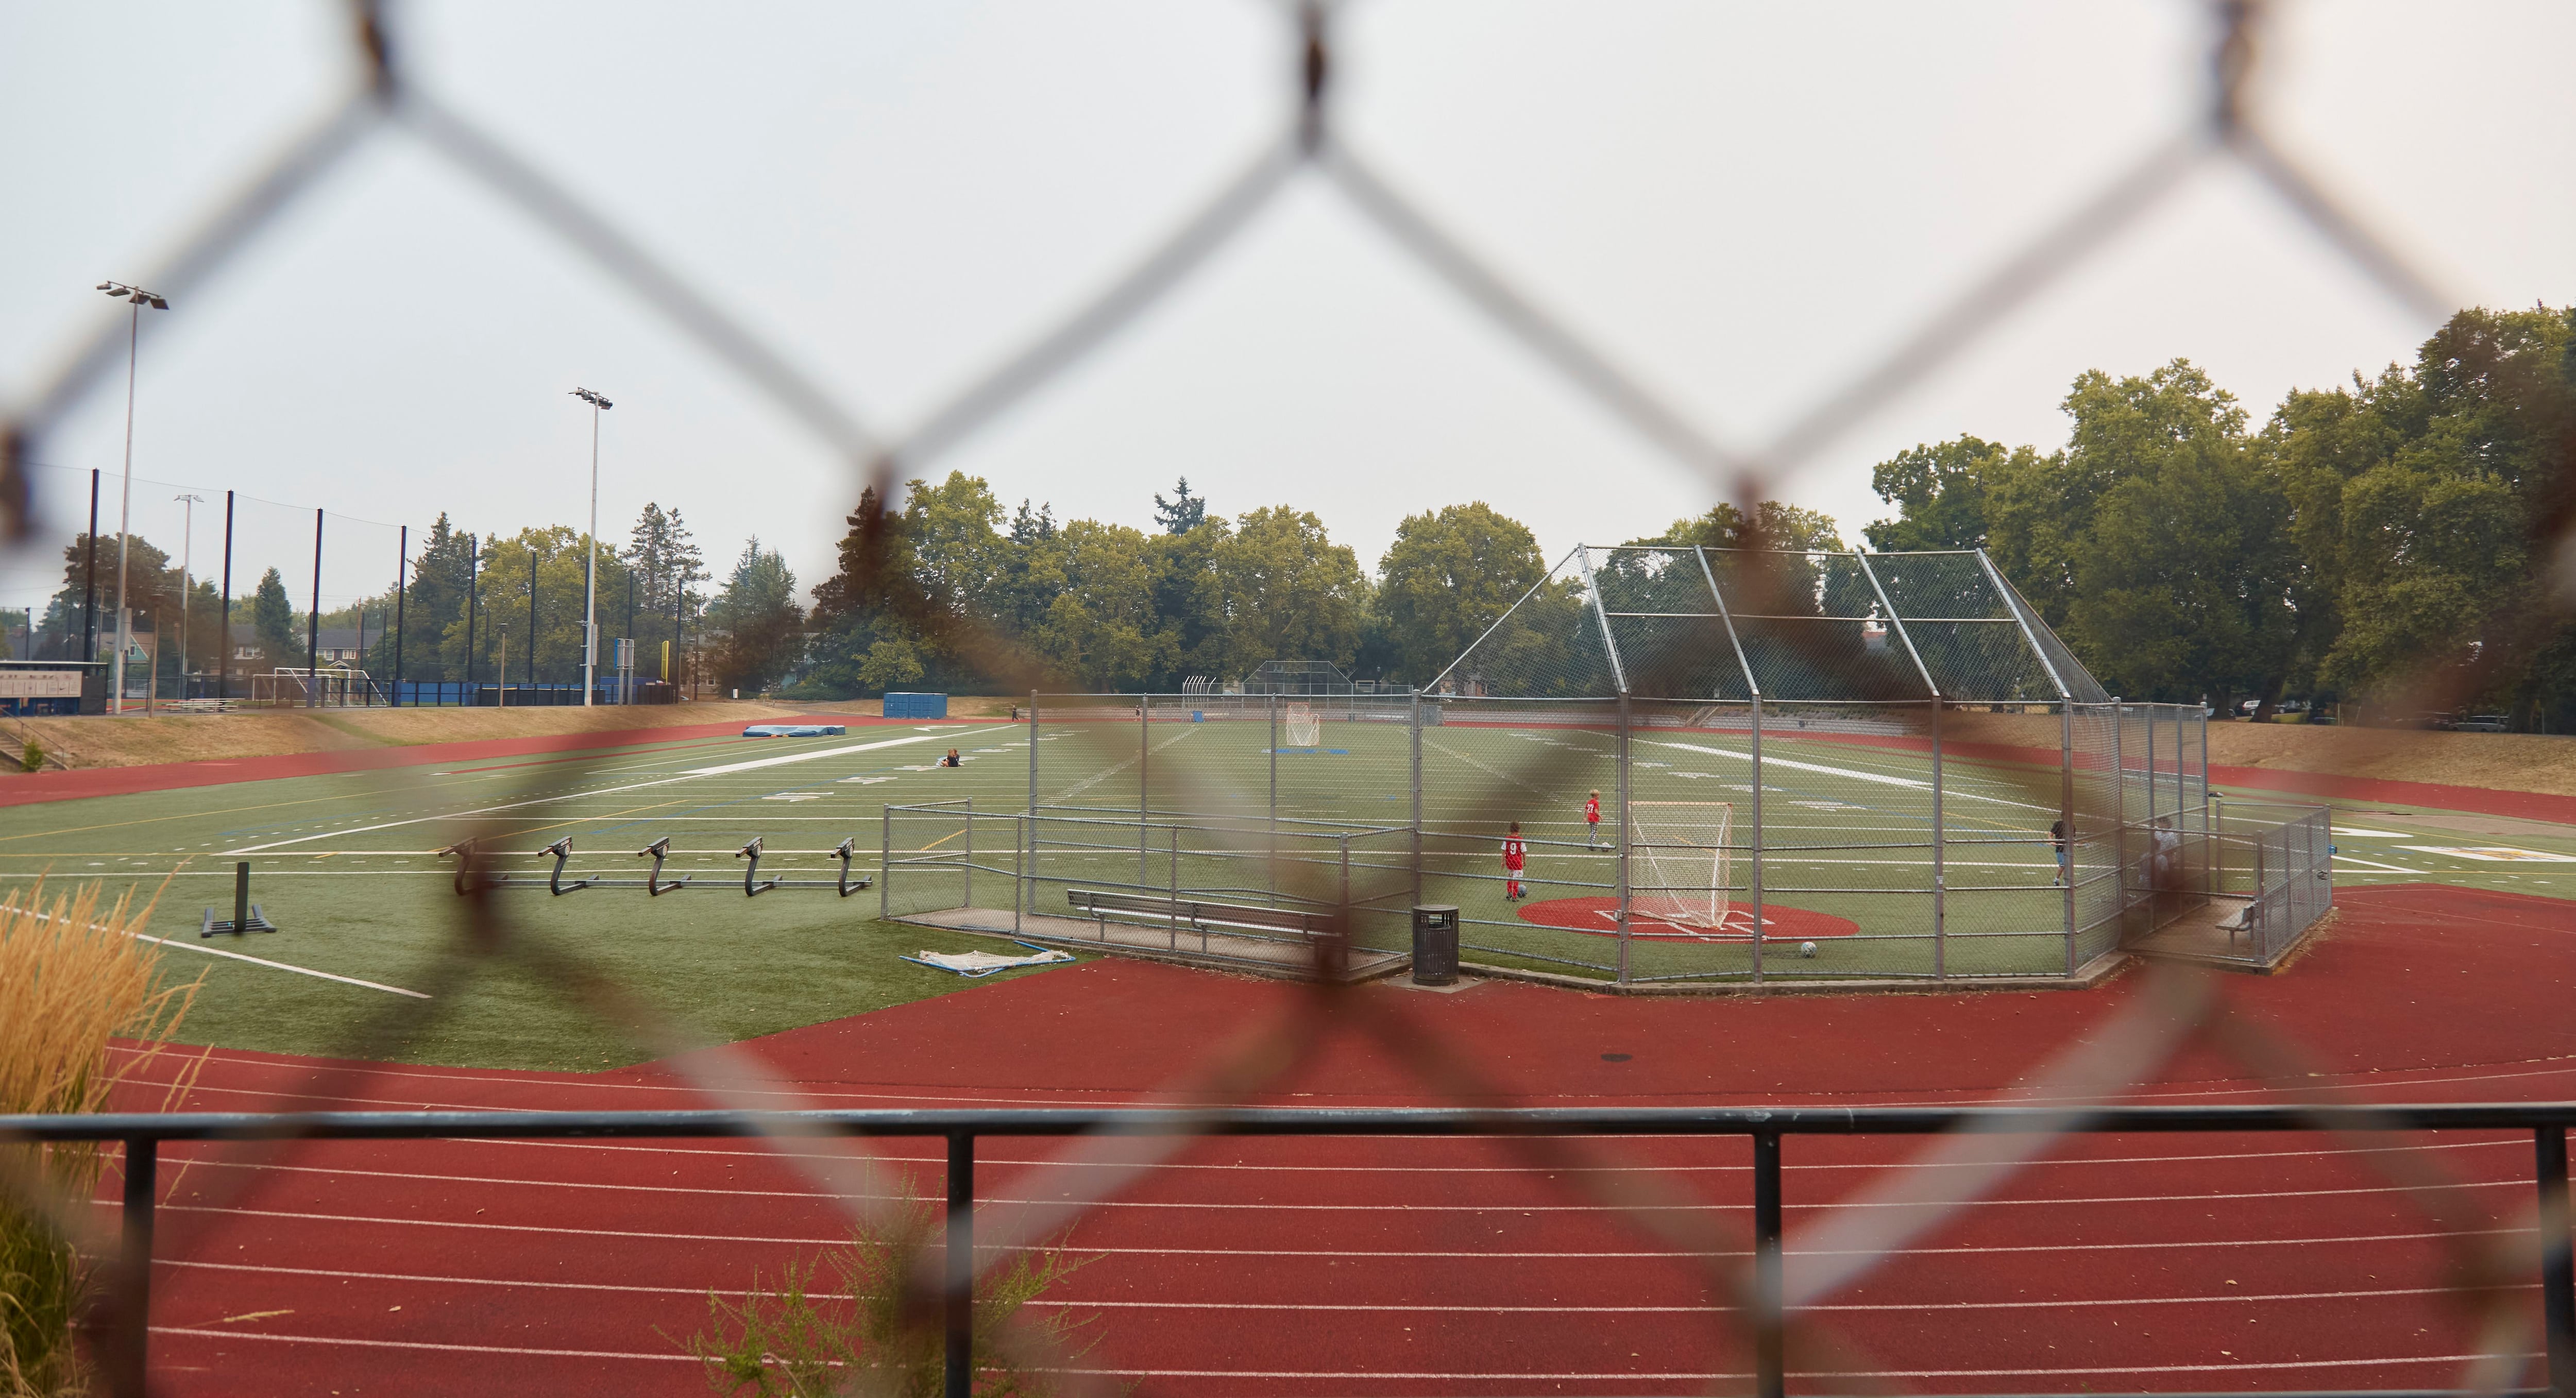
<path fill-rule="evenodd" d="M 1036 793 L 1046 819 L 1033 855 L 1020 850 L 1033 780 L 1028 726 L 940 723 L 18 806 L 0 811 L 0 875 L 18 886 L 36 875 L 57 886 L 98 878 L 111 896 L 157 896 L 152 935 L 260 958 L 204 958 L 191 1040 L 520 1068 L 600 1068 L 667 1045 L 644 1043 L 634 1025 L 616 1022 L 618 1012 L 580 1004 L 556 973 L 526 960 L 448 955 L 469 922 L 451 886 L 453 862 L 435 852 L 466 837 L 495 852 L 492 868 L 538 881 L 554 862 L 541 850 L 569 837 L 567 878 L 631 883 L 647 870 L 634 852 L 670 839 L 665 878 L 693 881 L 680 893 L 649 899 L 641 886 L 603 886 L 551 896 L 538 883 L 489 899 L 523 945 L 577 958 L 654 1017 L 708 1043 L 971 986 L 902 955 L 1007 947 L 878 922 L 881 906 L 894 914 L 958 906 L 969 878 L 976 906 L 1054 914 L 1069 911 L 1064 893 L 1082 886 L 1332 901 L 1347 839 L 1350 891 L 1378 909 L 1363 922 L 1363 940 L 1401 945 L 1414 899 L 1404 723 L 1327 721 L 1309 749 L 1273 749 L 1262 721 L 1180 716 L 1139 726 L 1126 713 L 1126 721 L 1108 711 L 1072 713 L 1041 726 Z M 935 765 L 948 747 L 961 749 L 956 770 Z M 1615 752 L 1615 734 L 1579 723 L 1422 731 L 1422 899 L 1463 909 L 1468 960 L 1610 973 L 1618 940 L 1602 909 L 1615 906 L 1618 891 Z M 1656 829 L 1705 832 L 1718 803 L 1728 806 L 1736 852 L 1723 881 L 1734 886 L 1734 932 L 1749 927 L 1747 778 L 1744 734 L 1638 729 L 1631 736 L 1631 798 L 1662 821 Z M 1582 801 L 1595 788 L 1607 816 L 1600 844 L 1587 847 Z M 1141 798 L 1149 819 L 1136 816 Z M 2045 839 L 2056 798 L 2053 770 L 1945 762 L 1947 971 L 2063 973 L 2066 893 L 2050 886 Z M 963 806 L 920 808 L 940 801 L 971 801 L 976 816 L 956 814 Z M 894 819 L 889 806 L 899 808 Z M 1765 914 L 1780 937 L 1767 945 L 1767 973 L 1927 973 L 1929 762 L 1850 734 L 1767 731 L 1762 806 Z M 1530 899 L 1520 904 L 1502 896 L 1499 842 L 1512 819 L 1530 839 Z M 2336 878 L 2347 886 L 2576 891 L 2566 862 L 2576 860 L 2576 832 L 2561 826 L 2385 806 L 2339 811 L 2336 824 Z M 829 850 L 842 839 L 855 842 L 855 875 L 881 878 L 881 852 L 891 850 L 894 878 L 853 899 L 817 886 L 747 899 L 737 850 L 755 837 L 765 844 L 762 878 L 827 883 L 840 873 Z M 1285 860 L 1267 857 L 1273 839 Z M 2092 909 L 2107 911 L 2112 857 L 2110 839 L 2079 852 L 2079 922 Z M 234 860 L 252 862 L 252 899 L 281 932 L 201 942 L 206 906 L 229 917 Z M 1705 868 L 1708 881 L 1721 878 L 1713 862 Z M 1633 870 L 1633 881 L 1643 886 L 1651 875 Z M 1795 955 L 1798 940 L 1814 940 L 1816 955 Z M 2089 945 L 2079 950 L 2089 955 Z M 1628 958 L 1638 978 L 1734 976 L 1749 968 L 1752 947 L 1741 935 L 1638 924 Z M 394 1038 L 376 1032 L 389 1012 L 410 1012 Z"/>

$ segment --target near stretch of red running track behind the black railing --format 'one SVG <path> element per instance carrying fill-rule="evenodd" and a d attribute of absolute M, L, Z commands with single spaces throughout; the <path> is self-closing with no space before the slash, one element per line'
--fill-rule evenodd
<path fill-rule="evenodd" d="M 2576 1097 L 2566 904 L 2452 888 L 2344 896 L 2293 973 L 2226 978 L 2321 1086 L 2367 1099 Z M 2012 1084 L 2125 994 L 1623 999 L 1481 983 L 1360 994 L 1473 1058 L 1515 1102 L 1947 1102 Z M 1110 1104 L 1283 1014 L 1296 991 L 1087 963 L 752 1048 L 811 1104 Z M 1605 1056 L 1625 1056 L 1610 1061 Z M 670 1071 L 389 1066 L 314 1099 L 309 1061 L 216 1056 L 193 1107 L 693 1104 Z M 2246 1068 L 2179 1056 L 2148 1099 L 2259 1102 Z M 1427 1099 L 1334 1040 L 1278 1094 Z M 1911 1156 L 1790 1141 L 1793 1236 Z M 979 1195 L 1028 1200 L 1041 1141 L 987 1141 Z M 925 1195 L 933 1143 L 891 1143 Z M 1731 1236 L 1739 1141 L 1615 1141 Z M 734 1143 L 322 1143 L 250 1166 L 173 1148 L 155 1367 L 165 1393 L 703 1393 L 665 1334 L 706 1290 L 837 1236 L 832 1210 Z M 2470 1233 L 2530 1205 L 2530 1143 L 2411 1138 Z M 247 1192 L 245 1192 L 247 1184 Z M 113 1187 L 111 1187 L 113 1195 Z M 2442 1223 L 2306 1135 L 2087 1138 L 1829 1298 L 1850 1347 L 1806 1390 L 2213 1390 L 2452 1385 L 2476 1349 L 2437 1295 Z M 1499 1143 L 1203 1141 L 1084 1218 L 1064 1298 L 1103 1316 L 1090 1365 L 1141 1393 L 1690 1393 L 1741 1375 L 1703 1274 Z M 1795 1244 L 1793 1244 L 1795 1246 Z M 2512 1298 L 2535 1310 L 2530 1292 Z M 662 1334 L 657 1334 L 662 1331 Z M 1819 1370 L 1821 1365 L 1821 1370 Z M 1862 1377 L 1880 1375 L 1880 1377 Z"/>

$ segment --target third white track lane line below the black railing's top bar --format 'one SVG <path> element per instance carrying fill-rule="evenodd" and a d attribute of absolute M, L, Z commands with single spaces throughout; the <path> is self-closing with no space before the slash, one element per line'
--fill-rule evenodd
<path fill-rule="evenodd" d="M 167 1262 L 155 1259 L 155 1267 L 193 1267 L 204 1272 L 255 1272 L 263 1277 L 337 1277 L 345 1282 L 404 1282 L 404 1285 L 438 1285 L 438 1287 L 497 1287 L 497 1290 L 567 1290 L 567 1292 L 613 1292 L 613 1295 L 750 1295 L 739 1290 L 721 1287 L 639 1287 L 631 1282 L 538 1282 L 518 1277 L 428 1277 L 417 1272 L 340 1272 L 330 1267 L 260 1267 L 252 1262 Z M 2540 1290 L 2540 1282 L 2506 1282 L 2501 1290 Z M 1834 1305 L 1808 1305 L 1806 1310 L 2087 1310 L 2087 1308 L 2112 1308 L 2112 1305 L 2239 1305 L 2259 1300 L 2378 1300 L 2378 1298 L 2406 1298 L 2406 1295 L 2452 1295 L 2455 1287 L 2375 1287 L 2375 1290 L 2347 1290 L 2347 1292 L 2223 1292 L 2223 1295 L 2130 1295 L 2130 1298 L 2099 1298 L 2099 1300 L 1937 1300 L 1937 1303 L 1906 1303 L 1906 1300 L 1852 1300 Z M 1036 1298 L 1030 1305 L 1097 1305 L 1118 1310 L 1368 1310 L 1368 1313 L 1455 1313 L 1450 1303 L 1360 1303 L 1360 1300 L 1087 1300 L 1087 1298 Z M 1728 1303 L 1708 1305 L 1476 1305 L 1473 1310 L 1512 1310 L 1512 1313 L 1584 1313 L 1584 1316 L 1721 1316 L 1739 1310 Z"/>

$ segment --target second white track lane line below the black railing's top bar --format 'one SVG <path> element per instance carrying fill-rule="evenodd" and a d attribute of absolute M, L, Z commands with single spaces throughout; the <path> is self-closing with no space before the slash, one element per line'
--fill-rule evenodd
<path fill-rule="evenodd" d="M 842 1246 L 848 1236 L 832 1238 L 804 1238 L 804 1236 L 755 1236 L 755 1233 L 665 1233 L 652 1228 L 554 1228 L 544 1223 L 489 1223 L 482 1218 L 374 1218 L 358 1213 L 299 1213 L 299 1210 L 273 1210 L 273 1207 L 224 1207 L 224 1205 L 170 1205 L 165 1202 L 160 1213 L 219 1213 L 229 1218 L 296 1218 L 307 1223 L 371 1223 L 386 1228 L 482 1228 L 487 1233 L 551 1233 L 567 1238 L 652 1238 L 652 1241 L 677 1241 L 677 1244 L 804 1244 L 804 1246 Z M 2179 1251 L 2179 1249 L 2306 1249 L 2326 1244 L 2406 1244 L 2406 1241 L 2455 1241 L 2455 1238 L 2494 1238 L 2494 1236 L 2530 1236 L 2530 1228 L 2468 1228 L 2460 1233 L 2344 1233 L 2321 1238 L 2156 1238 L 2151 1244 L 1991 1244 L 1991 1246 L 1940 1246 L 1940 1249 L 1906 1249 L 1906 1256 L 1986 1256 L 1986 1254 L 2025 1254 L 2025 1251 Z M 984 1244 L 976 1244 L 984 1249 Z M 984 1249 L 1002 1251 L 1002 1249 Z M 1471 1259 L 1553 1259 L 1553 1262 L 1602 1262 L 1602 1259 L 1641 1259 L 1641 1256 L 1682 1256 L 1682 1259 L 1728 1259 L 1752 1256 L 1749 1251 L 1685 1251 L 1685 1249 L 1620 1249 L 1620 1251 L 1466 1251 L 1466 1249 L 1182 1249 L 1182 1246 L 1082 1246 L 1082 1251 L 1097 1254 L 1136 1254 L 1136 1256 L 1358 1256 L 1378 1262 L 1401 1262 L 1422 1256 L 1471 1256 Z M 1788 1249 L 1788 1256 L 1883 1256 L 1886 1249 Z"/>

